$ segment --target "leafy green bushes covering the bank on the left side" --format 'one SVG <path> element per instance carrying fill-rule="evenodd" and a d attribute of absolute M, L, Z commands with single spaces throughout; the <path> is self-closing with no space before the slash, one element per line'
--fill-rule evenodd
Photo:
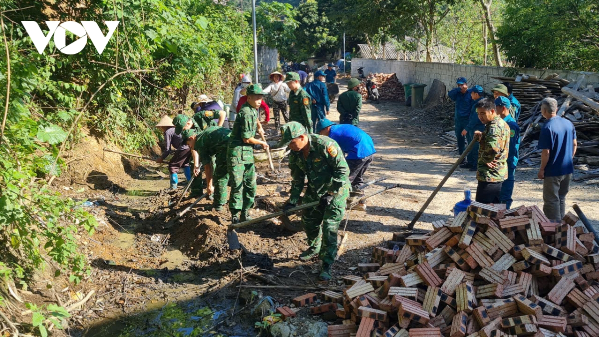
<path fill-rule="evenodd" d="M 0 140 L 0 275 L 26 288 L 48 255 L 58 275 L 80 282 L 90 269 L 77 252 L 78 237 L 93 233 L 96 221 L 47 186 L 66 169 L 59 148 L 73 148 L 83 128 L 126 151 L 155 145 L 150 125 L 186 107 L 188 97 L 230 95 L 237 75 L 252 64 L 251 29 L 235 8 L 210 0 L 90 0 L 84 7 L 78 0 L 5 0 L 0 11 L 11 62 Z M 105 20 L 120 23 L 101 55 L 89 41 L 81 53 L 65 55 L 53 39 L 40 55 L 22 20 L 40 23 L 44 35 L 47 20 L 91 20 L 104 32 Z M 67 38 L 68 44 L 72 37 Z M 4 46 L 1 50 L 4 108 L 8 67 Z M 40 314 L 49 317 L 46 311 L 52 309 Z M 38 326 L 43 333 L 44 325 Z"/>

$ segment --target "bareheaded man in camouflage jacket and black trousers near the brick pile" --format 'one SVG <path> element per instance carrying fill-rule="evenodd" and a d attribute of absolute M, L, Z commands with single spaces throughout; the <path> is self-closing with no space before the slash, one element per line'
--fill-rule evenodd
<path fill-rule="evenodd" d="M 510 127 L 495 112 L 495 102 L 491 98 L 483 98 L 475 107 L 480 121 L 485 124 L 485 131 L 474 133 L 480 142 L 476 201 L 500 203 L 501 184 L 507 179 Z"/>

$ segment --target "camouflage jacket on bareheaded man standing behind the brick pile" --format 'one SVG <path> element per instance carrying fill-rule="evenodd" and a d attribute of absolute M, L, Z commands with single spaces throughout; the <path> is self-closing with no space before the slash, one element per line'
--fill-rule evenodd
<path fill-rule="evenodd" d="M 479 160 L 476 179 L 481 182 L 503 182 L 507 179 L 507 155 L 510 147 L 510 127 L 496 116 L 485 125 L 480 137 Z M 497 167 L 491 169 L 487 163 L 497 160 Z"/>

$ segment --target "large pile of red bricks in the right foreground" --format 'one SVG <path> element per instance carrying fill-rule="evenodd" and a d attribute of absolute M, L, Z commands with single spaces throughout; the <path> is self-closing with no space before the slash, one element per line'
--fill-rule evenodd
<path fill-rule="evenodd" d="M 343 293 L 319 294 L 325 304 L 314 293 L 292 303 L 334 311 L 329 336 L 599 336 L 599 246 L 578 220 L 473 202 L 427 234 L 374 247 Z"/>

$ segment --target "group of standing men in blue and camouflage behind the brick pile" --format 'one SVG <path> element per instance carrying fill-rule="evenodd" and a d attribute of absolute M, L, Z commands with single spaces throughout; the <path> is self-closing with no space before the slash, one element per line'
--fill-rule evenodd
<path fill-rule="evenodd" d="M 479 85 L 469 88 L 459 77 L 457 87 L 448 95 L 455 102 L 455 135 L 460 155 L 472 144 L 462 162 L 463 169 L 476 171 L 476 201 L 504 203 L 512 206 L 516 166 L 521 142 L 518 118 L 521 105 L 512 94 L 509 82 L 491 89 L 486 97 Z M 558 104 L 553 98 L 541 101 L 541 114 L 546 119 L 539 136 L 541 166 L 537 176 L 543 179 L 543 212 L 549 219 L 561 220 L 565 214 L 565 197 L 574 172 L 576 130 L 565 118 L 557 116 Z"/>

